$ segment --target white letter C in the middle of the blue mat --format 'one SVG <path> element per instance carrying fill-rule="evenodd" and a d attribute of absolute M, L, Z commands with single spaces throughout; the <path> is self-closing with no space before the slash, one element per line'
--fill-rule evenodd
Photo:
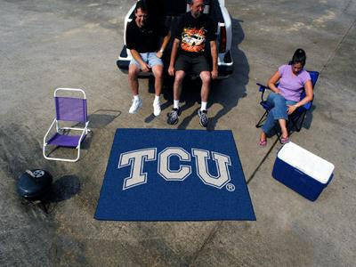
<path fill-rule="evenodd" d="M 190 161 L 190 153 L 182 148 L 166 148 L 159 153 L 158 159 L 158 174 L 166 181 L 183 181 L 191 174 L 190 166 L 179 166 L 178 171 L 172 171 L 169 165 L 171 157 L 178 157 L 181 161 Z"/>

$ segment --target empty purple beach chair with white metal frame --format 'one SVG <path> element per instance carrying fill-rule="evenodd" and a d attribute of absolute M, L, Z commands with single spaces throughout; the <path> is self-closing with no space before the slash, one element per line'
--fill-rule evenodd
<path fill-rule="evenodd" d="M 84 98 L 77 97 L 68 97 L 68 96 L 58 96 L 58 93 L 64 92 L 71 94 L 81 93 Z M 63 94 L 63 93 L 61 93 Z M 90 131 L 88 129 L 88 117 L 86 112 L 86 96 L 85 92 L 82 89 L 75 88 L 57 88 L 54 91 L 54 103 L 55 103 L 55 113 L 56 117 L 53 120 L 52 125 L 48 129 L 47 133 L 44 135 L 44 158 L 50 160 L 61 160 L 76 162 L 80 157 L 80 143 L 85 140 L 86 134 Z M 69 127 L 64 126 L 66 123 L 83 123 L 85 124 L 84 128 L 80 127 Z M 47 140 L 47 136 L 53 129 L 55 125 L 55 134 Z M 77 131 L 78 135 L 71 134 L 72 131 Z M 67 148 L 76 148 L 77 158 L 52 158 L 46 155 L 45 149 L 47 146 L 57 146 L 57 147 L 67 147 Z"/>

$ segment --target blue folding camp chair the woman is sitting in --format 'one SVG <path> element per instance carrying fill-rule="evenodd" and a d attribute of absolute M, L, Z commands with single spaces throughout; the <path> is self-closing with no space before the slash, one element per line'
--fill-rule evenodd
<path fill-rule="evenodd" d="M 312 78 L 312 89 L 314 90 L 315 84 L 317 83 L 318 77 L 319 77 L 319 72 L 318 71 L 309 71 L 309 74 L 311 75 Z M 261 127 L 264 123 L 264 121 L 267 118 L 268 113 L 271 110 L 271 107 L 268 105 L 267 101 L 264 100 L 263 94 L 266 91 L 266 89 L 271 90 L 268 86 L 266 85 L 261 85 L 261 84 L 256 84 L 259 87 L 259 91 L 262 93 L 261 94 L 261 101 L 260 105 L 265 109 L 265 112 L 263 113 L 263 116 L 260 118 L 258 123 L 255 125 L 257 128 Z M 305 97 L 305 91 L 303 90 L 303 93 L 301 95 L 301 99 Z M 314 97 L 313 97 L 314 99 Z M 304 104 L 302 107 L 299 107 L 298 109 L 295 109 L 295 112 L 292 114 L 288 115 L 288 120 L 287 120 L 287 129 L 295 129 L 296 132 L 299 132 L 302 129 L 303 125 L 303 120 L 305 117 L 306 112 L 312 108 L 312 101 Z M 279 131 L 277 131 L 275 127 L 276 134 L 280 137 Z M 280 142 L 280 138 L 279 138 Z"/>

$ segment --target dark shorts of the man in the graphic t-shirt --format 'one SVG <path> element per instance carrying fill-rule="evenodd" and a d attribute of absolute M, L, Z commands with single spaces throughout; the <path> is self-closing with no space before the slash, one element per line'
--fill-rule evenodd
<path fill-rule="evenodd" d="M 180 54 L 175 61 L 175 70 L 184 70 L 186 73 L 199 75 L 202 71 L 210 71 L 210 67 L 204 55 L 190 57 Z"/>

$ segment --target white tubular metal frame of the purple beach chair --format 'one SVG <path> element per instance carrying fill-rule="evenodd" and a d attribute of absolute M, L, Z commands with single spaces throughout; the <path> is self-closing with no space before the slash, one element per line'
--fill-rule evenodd
<path fill-rule="evenodd" d="M 59 91 L 71 91 L 71 92 L 80 92 L 80 93 L 83 93 L 84 95 L 84 99 L 86 100 L 86 95 L 85 95 L 85 92 L 83 89 L 78 89 L 78 88 L 57 88 L 54 90 L 54 94 L 53 96 L 56 97 L 57 96 L 57 93 Z M 57 112 L 57 110 L 56 110 Z M 87 110 L 86 110 L 87 112 Z M 57 114 L 56 114 L 57 115 Z M 45 154 L 45 148 L 46 146 L 48 145 L 47 144 L 47 135 L 50 133 L 51 129 L 53 128 L 53 125 L 55 124 L 55 129 L 56 129 L 56 132 L 58 134 L 61 134 L 62 131 L 64 130 L 74 130 L 74 131 L 81 131 L 82 134 L 80 135 L 80 138 L 79 138 L 79 141 L 77 143 L 77 147 L 76 147 L 76 150 L 77 150 L 77 158 L 52 158 L 52 157 L 48 157 L 46 154 Z M 67 162 L 76 162 L 79 157 L 80 157 L 80 144 L 81 142 L 83 141 L 83 138 L 85 137 L 86 134 L 88 134 L 90 132 L 90 129 L 88 128 L 88 125 L 89 125 L 89 120 L 87 120 L 85 122 L 85 127 L 84 128 L 80 128 L 80 127 L 61 127 L 60 126 L 60 121 L 57 120 L 57 116 L 54 117 L 53 119 L 53 123 L 52 125 L 49 127 L 47 133 L 45 133 L 44 135 L 44 147 L 43 147 L 43 154 L 44 154 L 44 158 L 45 159 L 48 159 L 48 160 L 58 160 L 58 161 L 67 161 Z"/>

